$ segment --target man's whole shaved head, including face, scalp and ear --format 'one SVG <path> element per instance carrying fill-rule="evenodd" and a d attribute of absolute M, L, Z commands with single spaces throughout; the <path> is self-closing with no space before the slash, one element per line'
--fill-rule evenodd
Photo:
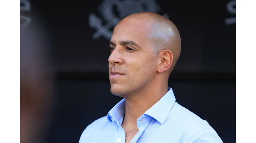
<path fill-rule="evenodd" d="M 166 90 L 168 77 L 180 56 L 180 34 L 161 15 L 136 13 L 116 25 L 110 50 L 112 94 L 128 97 L 145 89 Z M 122 76 L 117 77 L 117 73 Z"/>

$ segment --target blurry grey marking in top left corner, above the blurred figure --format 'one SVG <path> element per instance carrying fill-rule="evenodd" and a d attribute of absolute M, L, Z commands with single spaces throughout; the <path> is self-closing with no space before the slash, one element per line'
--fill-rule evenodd
<path fill-rule="evenodd" d="M 31 4 L 30 1 L 28 0 L 20 0 L 20 11 L 24 11 L 24 12 L 30 12 L 31 10 Z M 30 22 L 31 22 L 31 18 L 24 16 L 24 15 L 20 15 L 20 28 L 23 29 L 25 27 L 27 27 Z"/>

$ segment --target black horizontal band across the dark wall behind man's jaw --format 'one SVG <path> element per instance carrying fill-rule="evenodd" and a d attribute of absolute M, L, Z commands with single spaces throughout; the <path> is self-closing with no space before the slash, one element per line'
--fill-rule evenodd
<path fill-rule="evenodd" d="M 57 80 L 109 80 L 108 73 L 56 72 Z M 169 81 L 236 82 L 236 73 L 171 73 Z"/>

